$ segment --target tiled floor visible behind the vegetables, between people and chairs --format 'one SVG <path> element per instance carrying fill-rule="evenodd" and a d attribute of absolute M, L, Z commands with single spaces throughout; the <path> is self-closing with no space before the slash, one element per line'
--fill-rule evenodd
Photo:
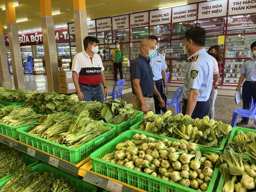
<path fill-rule="evenodd" d="M 45 75 L 24 75 L 25 79 L 25 85 L 26 85 L 26 92 L 31 92 L 36 90 L 37 92 L 47 92 L 47 79 Z M 112 91 L 114 80 L 106 80 L 108 91 Z M 182 85 L 182 84 L 181 84 Z M 14 88 L 14 82 L 13 82 L 13 76 L 10 75 L 10 83 L 3 82 L 4 88 L 13 89 Z M 103 87 L 103 86 L 102 86 Z M 118 88 L 116 88 L 117 90 Z M 177 84 L 175 86 L 172 86 L 171 84 L 168 85 L 168 95 L 167 98 L 171 99 L 173 98 L 174 91 L 177 89 Z M 232 88 L 235 89 L 235 88 Z M 230 91 L 228 91 L 230 92 Z M 124 88 L 123 88 L 123 98 L 127 103 L 131 103 L 131 82 L 126 81 Z M 109 97 L 108 99 L 111 99 L 112 97 Z M 223 98 L 222 96 L 217 96 L 216 102 L 215 102 L 215 117 L 214 119 L 216 121 L 222 121 L 225 124 L 231 124 L 232 119 L 232 113 L 235 108 L 242 108 L 243 107 L 243 101 L 241 101 L 238 105 L 235 105 L 234 99 L 232 97 L 229 98 Z M 171 110 L 173 114 L 175 114 L 174 106 L 168 106 L 168 110 Z M 241 118 L 238 118 L 237 122 L 240 122 Z M 250 118 L 248 125 L 243 125 L 245 128 L 251 128 L 255 129 L 254 119 Z"/>

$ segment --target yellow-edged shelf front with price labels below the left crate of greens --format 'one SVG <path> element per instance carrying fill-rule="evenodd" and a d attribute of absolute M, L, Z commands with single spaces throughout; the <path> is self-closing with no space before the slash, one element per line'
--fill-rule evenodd
<path fill-rule="evenodd" d="M 25 143 L 21 143 L 20 141 L 14 140 L 12 138 L 6 137 L 5 135 L 0 134 L 0 142 L 6 144 L 14 149 L 20 150 L 30 156 L 33 156 L 43 162 L 46 162 L 54 167 L 57 167 L 63 171 L 66 171 L 70 174 L 78 176 L 79 167 L 84 165 L 86 162 L 90 160 L 90 158 L 84 159 L 79 164 L 71 164 L 68 161 L 60 159 L 56 156 L 53 156 L 49 153 L 43 152 L 42 150 L 31 147 Z"/>

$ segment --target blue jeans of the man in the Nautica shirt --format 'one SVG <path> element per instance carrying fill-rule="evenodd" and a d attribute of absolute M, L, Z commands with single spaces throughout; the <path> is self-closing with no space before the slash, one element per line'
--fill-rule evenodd
<path fill-rule="evenodd" d="M 79 83 L 80 90 L 83 93 L 84 101 L 100 101 L 104 102 L 104 94 L 99 84 L 97 87 L 86 86 Z"/>

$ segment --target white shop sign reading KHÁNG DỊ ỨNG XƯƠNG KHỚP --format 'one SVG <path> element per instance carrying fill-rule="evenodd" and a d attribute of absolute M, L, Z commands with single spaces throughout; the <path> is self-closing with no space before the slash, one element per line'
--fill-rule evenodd
<path fill-rule="evenodd" d="M 130 15 L 130 28 L 149 26 L 149 12 Z"/>

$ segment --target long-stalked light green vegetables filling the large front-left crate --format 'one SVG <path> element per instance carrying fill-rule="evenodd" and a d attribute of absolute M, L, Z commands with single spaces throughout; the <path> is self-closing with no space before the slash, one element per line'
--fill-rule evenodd
<path fill-rule="evenodd" d="M 39 124 L 28 133 L 70 148 L 79 147 L 111 130 L 111 127 L 103 126 L 104 121 L 91 120 L 88 110 L 81 112 L 76 121 L 74 115 L 54 113 L 49 114 L 46 119 L 41 118 Z"/>

